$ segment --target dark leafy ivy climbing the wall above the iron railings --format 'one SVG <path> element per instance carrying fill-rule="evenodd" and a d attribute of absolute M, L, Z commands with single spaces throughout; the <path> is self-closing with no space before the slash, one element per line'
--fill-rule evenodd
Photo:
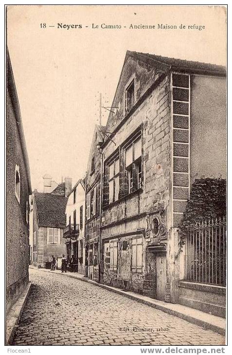
<path fill-rule="evenodd" d="M 179 225 L 179 252 L 185 244 L 187 230 L 193 224 L 222 216 L 226 216 L 226 179 L 210 177 L 196 179 L 182 223 Z"/>

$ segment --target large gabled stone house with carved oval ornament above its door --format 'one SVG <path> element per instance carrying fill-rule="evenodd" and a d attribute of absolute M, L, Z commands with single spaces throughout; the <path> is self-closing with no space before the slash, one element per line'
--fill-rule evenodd
<path fill-rule="evenodd" d="M 127 51 L 112 106 L 101 144 L 102 281 L 178 302 L 191 186 L 226 177 L 226 70 Z"/>

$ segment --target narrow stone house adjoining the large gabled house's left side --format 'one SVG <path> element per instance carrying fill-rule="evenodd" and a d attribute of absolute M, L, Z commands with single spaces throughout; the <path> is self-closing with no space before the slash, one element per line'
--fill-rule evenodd
<path fill-rule="evenodd" d="M 105 127 L 96 125 L 93 133 L 86 174 L 86 276 L 99 280 L 100 262 L 100 200 L 101 200 L 101 161 L 98 149 L 99 142 L 104 139 Z"/>

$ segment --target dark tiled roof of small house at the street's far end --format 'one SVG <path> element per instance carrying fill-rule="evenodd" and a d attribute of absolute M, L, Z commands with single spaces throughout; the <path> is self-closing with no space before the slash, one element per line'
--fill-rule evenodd
<path fill-rule="evenodd" d="M 64 228 L 65 209 L 68 198 L 49 193 L 35 193 L 38 225 L 41 227 Z"/>

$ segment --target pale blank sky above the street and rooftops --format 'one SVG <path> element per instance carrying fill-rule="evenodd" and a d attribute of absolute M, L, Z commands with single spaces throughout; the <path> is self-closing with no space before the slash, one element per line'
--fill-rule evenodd
<path fill-rule="evenodd" d="M 104 29 L 102 24 L 122 28 Z M 130 24 L 156 28 L 131 29 Z M 158 24 L 177 29 L 158 29 Z M 187 28 L 179 29 L 181 24 Z M 194 24 L 205 29 L 188 29 Z M 43 191 L 44 174 L 57 183 L 71 177 L 73 185 L 85 176 L 99 124 L 99 93 L 102 106 L 110 106 L 127 50 L 226 65 L 226 10 L 206 5 L 11 5 L 7 45 L 32 188 Z M 106 124 L 108 111 L 102 112 Z"/>

